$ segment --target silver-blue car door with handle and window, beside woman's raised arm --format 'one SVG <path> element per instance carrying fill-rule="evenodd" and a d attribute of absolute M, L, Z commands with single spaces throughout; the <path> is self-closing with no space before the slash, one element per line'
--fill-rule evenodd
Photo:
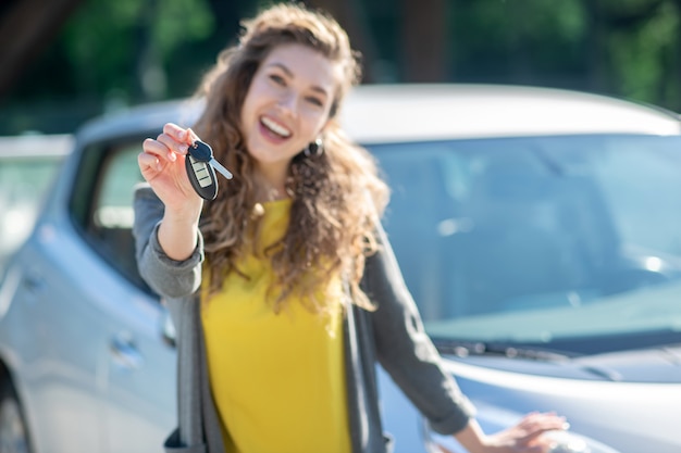
<path fill-rule="evenodd" d="M 100 294 L 99 335 L 106 451 L 160 451 L 175 421 L 175 351 L 165 335 L 166 311 L 137 274 L 132 237 L 133 190 L 141 180 L 141 139 L 102 143 L 84 158 L 94 168 L 81 178 L 73 206 L 85 241 L 107 267 Z M 91 173 L 91 172 L 90 172 Z M 95 285 L 95 282 L 92 282 Z M 92 288 L 95 290 L 95 288 Z"/>

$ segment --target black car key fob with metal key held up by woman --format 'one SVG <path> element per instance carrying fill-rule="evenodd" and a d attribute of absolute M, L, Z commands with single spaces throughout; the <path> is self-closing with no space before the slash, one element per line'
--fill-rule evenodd
<path fill-rule="evenodd" d="M 218 178 L 215 169 L 225 178 L 232 179 L 232 173 L 222 166 L 213 158 L 213 150 L 208 143 L 200 140 L 189 147 L 185 159 L 185 167 L 194 190 L 206 200 L 214 200 L 218 197 Z"/>

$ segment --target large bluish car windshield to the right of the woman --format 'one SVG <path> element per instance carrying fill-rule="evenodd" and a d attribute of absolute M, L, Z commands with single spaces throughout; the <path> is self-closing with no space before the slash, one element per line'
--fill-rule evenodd
<path fill-rule="evenodd" d="M 681 138 L 370 147 L 436 340 L 597 353 L 681 341 Z"/>

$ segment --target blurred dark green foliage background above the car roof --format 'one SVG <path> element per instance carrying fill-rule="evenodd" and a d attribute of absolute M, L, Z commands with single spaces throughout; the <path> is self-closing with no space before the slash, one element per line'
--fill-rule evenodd
<path fill-rule="evenodd" d="M 0 135 L 73 131 L 121 106 L 188 96 L 239 18 L 272 1 L 83 0 L 0 109 Z M 420 81 L 404 58 L 396 0 L 306 1 L 350 12 L 370 59 L 367 81 Z M 413 8 L 413 4 L 410 7 Z M 508 83 L 602 92 L 681 110 L 681 0 L 444 0 L 442 81 Z M 333 12 L 333 11 L 332 11 Z M 363 39 L 359 39 L 363 38 Z M 429 53 L 430 52 L 430 53 Z M 412 65 L 407 71 L 406 65 Z"/>

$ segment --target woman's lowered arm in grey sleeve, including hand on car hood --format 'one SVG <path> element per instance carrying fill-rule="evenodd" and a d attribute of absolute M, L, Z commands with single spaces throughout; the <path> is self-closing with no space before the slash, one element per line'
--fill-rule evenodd
<path fill-rule="evenodd" d="M 438 433 L 453 433 L 471 453 L 545 453 L 542 433 L 566 429 L 556 414 L 532 413 L 517 425 L 485 435 L 474 407 L 460 392 L 428 337 L 387 240 L 379 225 L 381 250 L 367 260 L 362 287 L 377 304 L 372 314 L 376 355 L 409 400 Z"/>

